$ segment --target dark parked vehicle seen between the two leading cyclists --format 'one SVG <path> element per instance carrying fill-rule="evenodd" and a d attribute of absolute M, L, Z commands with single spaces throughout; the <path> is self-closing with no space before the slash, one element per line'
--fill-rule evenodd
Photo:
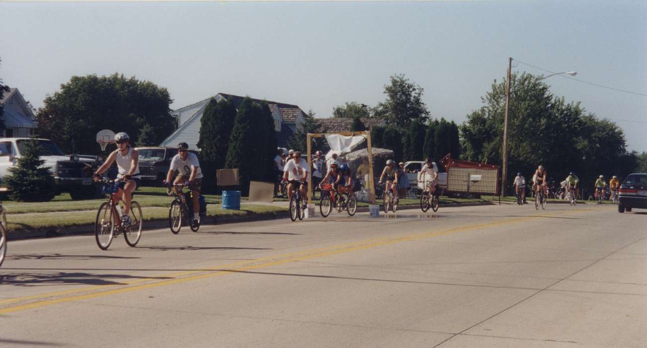
<path fill-rule="evenodd" d="M 177 155 L 175 147 L 142 146 L 136 147 L 139 151 L 139 172 L 142 183 L 152 186 L 162 186 L 166 173 L 171 168 L 171 158 Z M 189 150 L 198 155 L 197 151 Z"/>

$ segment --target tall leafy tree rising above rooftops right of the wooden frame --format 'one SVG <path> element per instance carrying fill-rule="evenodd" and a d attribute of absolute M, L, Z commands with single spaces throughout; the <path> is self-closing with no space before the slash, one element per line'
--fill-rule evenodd
<path fill-rule="evenodd" d="M 374 109 L 375 118 L 384 118 L 388 125 L 393 125 L 405 131 L 413 120 L 426 122 L 429 111 L 422 102 L 424 89 L 409 82 L 404 74 L 391 76 L 391 84 L 384 85 L 386 100 L 378 103 Z"/>

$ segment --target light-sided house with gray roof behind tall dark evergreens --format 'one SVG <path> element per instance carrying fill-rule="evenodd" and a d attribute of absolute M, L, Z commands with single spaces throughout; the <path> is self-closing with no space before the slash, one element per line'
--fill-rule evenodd
<path fill-rule="evenodd" d="M 243 103 L 243 99 L 245 99 L 243 96 L 225 93 L 218 93 L 213 98 L 215 98 L 216 102 L 223 99 L 232 100 L 236 110 Z M 197 142 L 200 138 L 200 119 L 209 100 L 211 100 L 211 97 L 172 111 L 171 114 L 177 118 L 178 127 L 171 135 L 164 139 L 160 146 L 176 146 L 179 142 L 186 142 L 189 144 L 190 149 L 197 150 Z M 252 100 L 254 102 L 263 102 L 263 100 L 254 98 Z M 278 145 L 287 147 L 287 141 L 292 135 L 296 131 L 303 129 L 305 113 L 298 105 L 271 102 L 269 100 L 265 100 L 265 102 L 268 104 L 270 111 L 272 111 L 274 131 L 276 131 Z"/>

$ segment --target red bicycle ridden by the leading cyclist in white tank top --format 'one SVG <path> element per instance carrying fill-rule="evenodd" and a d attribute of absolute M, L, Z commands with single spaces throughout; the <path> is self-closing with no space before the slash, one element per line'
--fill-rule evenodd
<path fill-rule="evenodd" d="M 128 226 L 122 225 L 117 211 L 117 209 L 121 210 L 119 206 L 120 199 L 116 197 L 116 193 L 119 191 L 119 181 L 113 182 L 113 180 L 104 178 L 100 182 L 104 184 L 103 192 L 109 197 L 107 202 L 103 202 L 99 206 L 96 213 L 96 221 L 94 222 L 96 244 L 102 250 L 107 250 L 113 239 L 119 234 L 123 234 L 126 244 L 134 247 L 142 237 L 142 227 L 144 226 L 142 207 L 138 202 L 131 201 L 131 223 Z"/>

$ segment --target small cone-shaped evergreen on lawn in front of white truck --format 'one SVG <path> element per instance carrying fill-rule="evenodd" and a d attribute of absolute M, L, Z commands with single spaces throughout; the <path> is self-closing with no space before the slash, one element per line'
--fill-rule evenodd
<path fill-rule="evenodd" d="M 25 142 L 25 151 L 18 158 L 15 167 L 8 169 L 9 175 L 3 180 L 11 191 L 14 201 L 47 202 L 56 195 L 54 177 L 48 167 L 43 166 L 38 153 L 41 150 L 35 138 Z"/>

